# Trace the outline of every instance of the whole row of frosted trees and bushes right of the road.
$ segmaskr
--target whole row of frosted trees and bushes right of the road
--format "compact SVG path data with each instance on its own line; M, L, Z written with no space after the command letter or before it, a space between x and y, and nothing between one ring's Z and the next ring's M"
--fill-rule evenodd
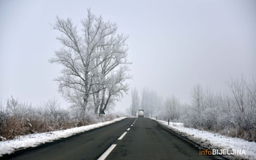
M142 108L146 111L147 117L171 119L173 122L183 122L185 127L219 132L255 142L255 78L248 81L241 76L225 83L227 85L225 92L213 92L210 87L195 85L191 90L189 104L182 104L174 95L164 99L146 88L142 90L142 95L139 97L136 94L137 90L134 89L129 112L134 115L138 108Z

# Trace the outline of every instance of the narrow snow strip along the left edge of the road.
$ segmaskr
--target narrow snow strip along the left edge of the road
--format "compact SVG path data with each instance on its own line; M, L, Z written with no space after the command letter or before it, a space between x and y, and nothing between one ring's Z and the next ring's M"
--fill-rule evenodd
M39 144L45 144L46 142L53 142L56 139L70 137L74 134L78 134L80 132L85 132L91 129L102 127L107 124L112 124L114 122L121 121L122 119L125 119L125 118L126 117L120 117L108 122L100 122L97 124L91 124L87 126L75 127L71 129L65 129L65 130L54 131L54 132L28 134L26 136L18 137L17 139L0 142L0 157L4 154L11 154L18 149L35 147L35 146L38 146Z

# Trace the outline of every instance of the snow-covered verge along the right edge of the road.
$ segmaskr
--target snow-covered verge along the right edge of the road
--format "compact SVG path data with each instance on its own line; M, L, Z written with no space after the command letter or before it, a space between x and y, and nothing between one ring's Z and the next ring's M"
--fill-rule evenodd
M229 159L256 159L256 142L247 142L244 139L183 127L183 124L178 122L170 122L169 125L165 121L157 120L157 122L208 149L245 149L246 155L226 156Z

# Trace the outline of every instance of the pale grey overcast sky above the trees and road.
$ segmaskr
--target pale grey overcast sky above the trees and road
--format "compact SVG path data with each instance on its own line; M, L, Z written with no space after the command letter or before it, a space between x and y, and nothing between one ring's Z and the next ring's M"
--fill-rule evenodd
M61 66L48 59L60 48L55 16L92 14L116 22L129 35L130 87L151 88L189 102L197 83L215 91L225 80L256 76L256 1L0 1L0 99L13 95L33 104L58 98L53 79ZM117 103L125 110L129 95Z

